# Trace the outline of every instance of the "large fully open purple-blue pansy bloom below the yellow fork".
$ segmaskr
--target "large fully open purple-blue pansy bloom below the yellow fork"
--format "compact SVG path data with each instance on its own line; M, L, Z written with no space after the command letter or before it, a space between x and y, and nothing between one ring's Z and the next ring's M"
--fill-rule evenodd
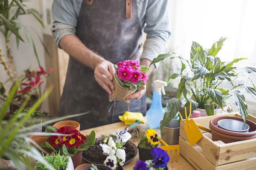
M155 168L164 168L165 166L167 166L167 162L169 162L170 158L163 149L153 148L150 153L155 158L152 162Z

